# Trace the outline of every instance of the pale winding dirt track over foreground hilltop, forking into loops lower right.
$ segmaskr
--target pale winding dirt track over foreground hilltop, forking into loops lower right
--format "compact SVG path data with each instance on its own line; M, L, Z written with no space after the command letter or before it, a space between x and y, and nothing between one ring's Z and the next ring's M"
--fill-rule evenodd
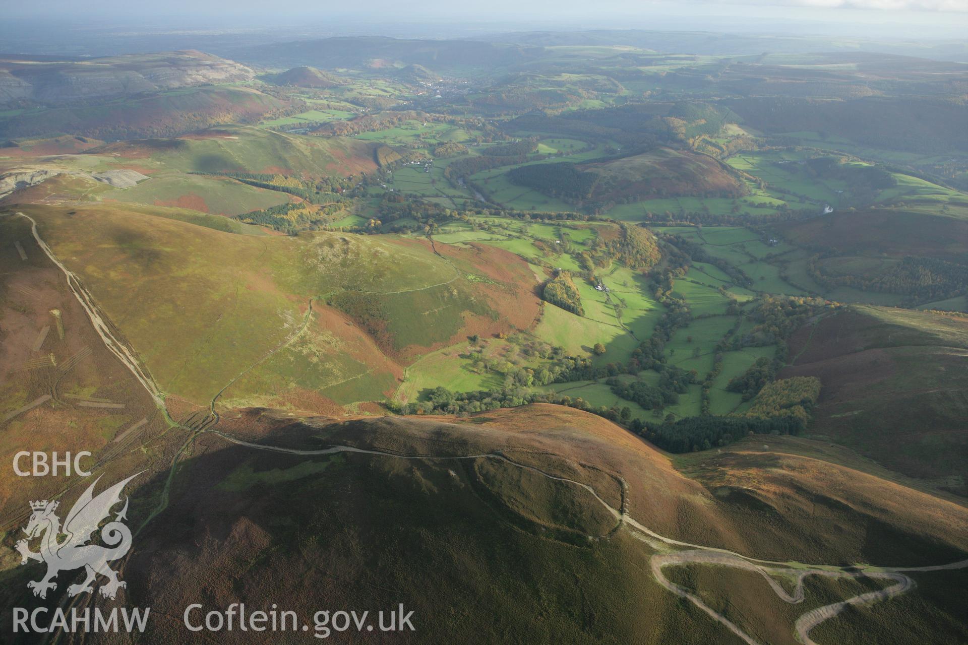
M677 565L687 565L687 564L705 564L705 565L718 565L725 567L733 567L736 569L741 569L744 571L758 572L767 580L773 592L783 601L790 602L791 604L797 604L803 601L803 579L807 575L823 575L828 577L871 577L871 578L883 578L893 580L895 584L884 589L879 589L876 591L867 592L859 596L847 599L845 601L833 602L831 604L812 609L802 614L800 618L797 619L797 623L794 626L794 630L797 634L798 640L800 640L804 645L818 645L809 636L810 630L820 625L824 621L827 621L849 605L852 604L865 604L876 601L883 601L894 596L903 594L904 592L912 589L915 586L914 580L905 575L903 572L932 572L932 571L943 571L951 569L964 569L968 568L968 560L961 560L959 562L953 562L947 565L936 565L932 567L916 567L916 568L886 568L886 567L856 567L852 568L852 571L844 571L843 568L835 565L807 565L800 562L790 561L790 562L773 562L771 560L759 560L756 558L750 558L748 556L742 555L741 553L736 553L724 548L716 548L712 546L704 546L701 544L692 544L689 542L681 542L679 540L673 540L672 538L667 538L663 535L655 533L649 527L639 523L634 518L632 518L627 512L623 512L619 509L614 509L610 504L608 504L604 499L602 499L598 493L589 484L584 484L582 482L576 482L574 480L569 480L567 478L558 477L547 473L539 468L529 466L526 464L521 464L513 459L508 458L504 454L500 453L482 453L482 454L465 454L457 456L437 456L434 454L402 454L393 453L389 451L380 451L373 449L356 448L354 446L332 446L330 448L325 448L321 450L298 450L294 448L282 448L278 446L266 446L263 444L252 443L249 441L243 441L224 432L219 432L216 430L209 430L210 432L219 435L220 437L226 439L227 441L237 444L239 446L245 446L247 448L252 448L255 450L269 451L274 453L286 453L286 454L302 454L307 456L317 456L322 454L337 454L337 453L357 453L357 454L378 454L380 456L397 457L402 459L498 459L509 463L513 466L519 468L524 468L532 472L536 472L544 477L547 477L558 482L564 482L566 484L573 484L584 488L589 491L591 495L598 500L598 502L604 506L609 513L619 521L620 526L626 528L631 535L641 540L642 542L650 543L654 548L655 543L650 540L658 540L659 542L665 542L666 544L672 546L682 546L687 547L689 550L675 551L671 553L658 553L650 558L651 562L651 572L654 576L656 582L671 591L672 593L684 598L697 607L702 609L707 613L713 620L720 623L726 629L732 631L734 634L739 636L743 642L748 645L760 645L760 643L754 640L749 634L741 630L736 624L730 621L728 618L718 613L712 609L709 605L702 601L698 596L689 593L686 589L670 581L662 572L664 567L673 567ZM622 487L627 490L628 483L624 479L621 479ZM773 575L783 575L787 577L794 577L796 580L796 588L794 593L788 593L783 587L776 582Z

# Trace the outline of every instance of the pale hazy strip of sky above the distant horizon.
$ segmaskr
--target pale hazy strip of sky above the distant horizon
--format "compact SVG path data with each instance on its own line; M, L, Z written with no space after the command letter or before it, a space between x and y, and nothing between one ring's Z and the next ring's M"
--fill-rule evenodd
M45 0L6 2L4 18L70 29L244 30L461 37L496 31L646 28L860 38L966 39L968 0ZM449 30L449 31L448 31ZM4 31L0 26L0 35Z

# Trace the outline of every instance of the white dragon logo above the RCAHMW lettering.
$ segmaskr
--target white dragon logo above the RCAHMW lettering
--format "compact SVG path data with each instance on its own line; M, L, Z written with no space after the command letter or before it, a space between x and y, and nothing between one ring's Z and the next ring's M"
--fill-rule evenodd
M72 571L81 567L87 572L87 577L80 584L73 584L67 588L68 596L76 596L81 592L91 593L94 587L91 582L100 573L107 578L107 583L101 586L101 595L105 598L114 599L118 589L128 586L127 583L118 579L117 572L111 570L107 563L112 560L123 558L131 548L131 530L125 526L121 520L127 519L125 513L128 512L128 498L125 498L124 508L114 516L114 521L108 522L101 529L101 540L108 546L101 544L87 544L91 540L92 534L98 529L102 520L106 519L111 508L121 501L121 490L125 484L131 482L140 473L132 475L127 480L114 484L107 490L92 495L94 486L98 484L100 477L94 484L88 486L87 490L77 499L71 513L67 514L63 528L61 527L60 517L54 511L57 510L58 502L31 502L30 508L33 513L30 521L27 522L23 532L27 534L27 540L16 542L15 548L20 552L21 565L27 564L29 560L45 562L47 565L46 575L37 581L27 583L29 589L34 590L34 596L46 598L47 590L56 589L57 583L54 578L62 571ZM28 540L33 540L43 534L41 540L41 550L35 553L27 545ZM63 542L57 539L64 535Z

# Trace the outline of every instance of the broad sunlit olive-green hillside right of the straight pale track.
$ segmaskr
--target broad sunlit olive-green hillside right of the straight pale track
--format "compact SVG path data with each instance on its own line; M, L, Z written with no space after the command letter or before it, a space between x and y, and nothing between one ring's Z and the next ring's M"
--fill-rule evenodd
M477 267L471 252L446 258L410 241L336 233L240 235L217 230L223 218L183 221L146 207L23 211L39 221L42 236L96 294L162 389L197 404L228 384L230 399L250 400L319 393L352 376L358 387L335 398L379 399L399 372L384 353L412 360L471 329L527 326L537 310L534 296L503 274L475 286L471 271L489 269ZM504 265L505 272L519 265L529 271L513 256ZM415 296L428 299L425 308L412 307ZM513 313L499 313L504 308ZM383 320L392 324L381 327Z

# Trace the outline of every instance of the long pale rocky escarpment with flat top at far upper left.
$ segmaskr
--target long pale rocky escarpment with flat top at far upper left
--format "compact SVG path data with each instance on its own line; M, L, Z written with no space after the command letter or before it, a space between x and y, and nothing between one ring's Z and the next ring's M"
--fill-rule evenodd
M0 58L0 105L84 103L254 77L244 65L193 50L81 61Z

